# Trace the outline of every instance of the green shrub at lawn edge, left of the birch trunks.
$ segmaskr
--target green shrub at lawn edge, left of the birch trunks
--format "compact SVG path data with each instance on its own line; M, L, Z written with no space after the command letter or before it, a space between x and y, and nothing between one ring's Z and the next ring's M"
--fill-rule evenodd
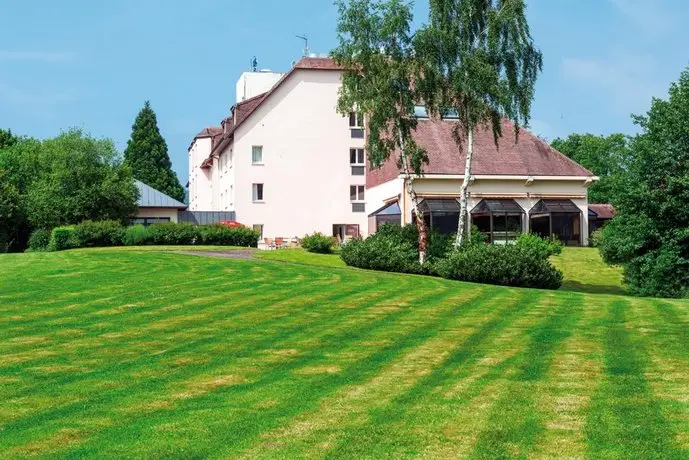
M342 246L340 257L350 267L398 273L422 273L418 250L409 242L378 233Z

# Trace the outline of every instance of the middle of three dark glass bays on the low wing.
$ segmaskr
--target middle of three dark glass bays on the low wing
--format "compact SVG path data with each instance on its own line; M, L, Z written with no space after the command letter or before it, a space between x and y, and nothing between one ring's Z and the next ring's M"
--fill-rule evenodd
M524 216L524 209L514 200L485 199L471 210L471 223L488 242L505 244L523 231Z

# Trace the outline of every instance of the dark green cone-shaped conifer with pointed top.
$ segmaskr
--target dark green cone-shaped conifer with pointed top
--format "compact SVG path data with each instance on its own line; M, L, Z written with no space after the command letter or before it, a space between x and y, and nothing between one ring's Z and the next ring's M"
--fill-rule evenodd
M167 143L160 134L156 114L149 101L134 121L124 161L136 179L178 201L184 200L184 188L172 171Z

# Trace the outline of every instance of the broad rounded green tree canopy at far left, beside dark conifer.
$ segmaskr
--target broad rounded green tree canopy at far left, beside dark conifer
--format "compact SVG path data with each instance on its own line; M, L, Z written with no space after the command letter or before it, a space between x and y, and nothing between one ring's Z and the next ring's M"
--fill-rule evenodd
M32 229L125 222L137 210L138 189L113 142L80 130L45 141L18 139L0 149L0 177L5 250L22 249Z

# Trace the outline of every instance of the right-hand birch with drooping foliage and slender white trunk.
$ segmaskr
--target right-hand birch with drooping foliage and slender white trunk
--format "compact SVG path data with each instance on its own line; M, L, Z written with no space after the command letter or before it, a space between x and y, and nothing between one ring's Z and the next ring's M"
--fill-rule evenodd
M415 37L423 63L418 80L431 113L452 109L454 137L467 144L456 246L469 233L468 187L474 130L487 127L496 144L503 118L528 124L542 55L526 20L525 0L430 0L429 23ZM518 129L516 130L518 133Z

